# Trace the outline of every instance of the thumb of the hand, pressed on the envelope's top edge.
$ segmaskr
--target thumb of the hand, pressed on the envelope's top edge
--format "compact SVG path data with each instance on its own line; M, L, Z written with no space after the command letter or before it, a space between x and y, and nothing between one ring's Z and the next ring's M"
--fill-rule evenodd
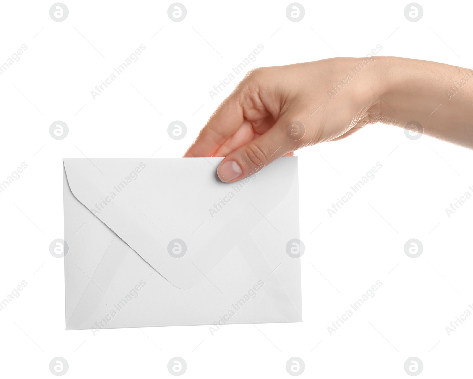
M282 155L296 150L304 134L302 123L280 117L271 129L225 157L217 168L220 180L233 183L253 175Z

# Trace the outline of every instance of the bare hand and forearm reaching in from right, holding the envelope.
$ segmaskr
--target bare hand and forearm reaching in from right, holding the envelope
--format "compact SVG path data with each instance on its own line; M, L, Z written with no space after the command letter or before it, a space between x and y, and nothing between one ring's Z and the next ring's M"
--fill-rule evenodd
M225 157L217 173L232 183L280 156L377 122L473 148L473 71L397 57L254 69L184 156Z

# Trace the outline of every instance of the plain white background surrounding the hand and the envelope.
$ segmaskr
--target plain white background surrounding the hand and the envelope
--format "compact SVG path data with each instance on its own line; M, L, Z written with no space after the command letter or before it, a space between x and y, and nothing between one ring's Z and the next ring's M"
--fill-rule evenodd
M189 378L289 378L293 356L303 377L407 378L411 356L424 364L420 377L471 375L473 316L450 336L445 327L473 303L473 199L451 217L445 208L473 194L472 152L380 124L297 153L303 323L227 325L214 336L208 326L65 332L63 261L49 253L63 236L61 158L182 156L244 74L213 100L209 90L258 44L246 69L363 57L377 44L383 55L473 67L466 2L420 2L424 15L410 22L408 1L301 0L306 15L291 22L290 1L182 1L182 22L167 16L171 1L64 0L63 22L49 16L53 1L2 2L0 64L27 50L0 76L0 181L28 167L0 193L0 299L28 284L0 312L0 375L53 377L56 356L70 378L171 377L174 356ZM94 100L90 91L140 44L139 60ZM69 126L59 141L49 135L56 120ZM188 129L179 141L166 132L174 120ZM375 179L330 217L377 162ZM423 243L419 258L404 253L411 238ZM377 280L376 296L330 336Z

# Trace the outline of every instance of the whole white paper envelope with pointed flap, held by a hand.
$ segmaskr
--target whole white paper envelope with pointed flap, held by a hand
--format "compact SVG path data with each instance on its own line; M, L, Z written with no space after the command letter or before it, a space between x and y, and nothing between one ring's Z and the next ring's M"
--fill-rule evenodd
M66 330L302 321L297 158L221 160L63 160Z

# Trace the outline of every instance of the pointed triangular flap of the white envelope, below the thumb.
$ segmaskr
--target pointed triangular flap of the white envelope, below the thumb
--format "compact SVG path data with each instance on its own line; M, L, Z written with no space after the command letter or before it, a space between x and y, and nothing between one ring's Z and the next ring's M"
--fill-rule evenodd
M74 196L159 274L185 289L235 248L296 178L297 158L283 157L246 180L223 183L216 176L222 159L63 162Z

